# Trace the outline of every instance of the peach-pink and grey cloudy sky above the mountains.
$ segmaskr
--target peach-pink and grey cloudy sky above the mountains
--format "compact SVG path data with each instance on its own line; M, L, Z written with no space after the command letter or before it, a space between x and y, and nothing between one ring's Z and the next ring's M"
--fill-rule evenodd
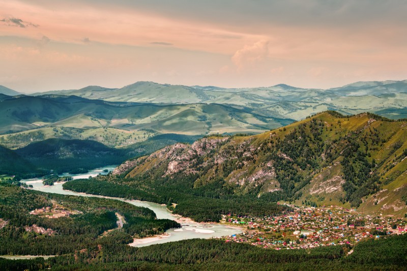
M407 79L405 0L0 0L0 85Z

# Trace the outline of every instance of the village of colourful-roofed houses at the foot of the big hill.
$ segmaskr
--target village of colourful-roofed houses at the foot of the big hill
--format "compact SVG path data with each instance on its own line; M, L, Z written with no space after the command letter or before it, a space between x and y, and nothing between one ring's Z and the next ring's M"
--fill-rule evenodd
M355 245L366 238L380 239L407 232L406 220L370 216L342 207L298 207L270 217L224 216L224 222L244 227L242 234L222 237L225 242L248 243L271 249L307 249Z

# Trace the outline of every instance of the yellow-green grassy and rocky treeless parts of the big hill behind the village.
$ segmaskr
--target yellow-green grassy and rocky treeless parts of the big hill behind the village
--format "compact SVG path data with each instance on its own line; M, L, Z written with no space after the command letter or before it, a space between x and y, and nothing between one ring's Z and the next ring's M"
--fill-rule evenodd
M373 120L375 117L376 116L368 114L360 114L343 118L330 113L318 114L312 118L307 118L303 121L288 125L284 127L284 129L274 130L252 137L234 137L219 149L216 149L215 153L205 155L202 161L208 161L210 163L215 159L216 155L222 153L226 154L227 151L228 153L225 158L231 160L232 163L238 164L240 160L232 158L235 156L234 152L236 149L239 148L239 146L243 146L245 148L242 151L243 153L252 146L252 149L254 149L252 151L253 158L248 159L242 168L236 168L234 164L232 164L232 167L235 167L235 169L227 173L224 178L226 182L231 182L231 180L236 182L237 179L238 182L243 184L235 188L235 194L258 193L258 195L266 195L267 191L279 188L279 183L275 178L265 180L263 183L252 183L248 179L252 178L253 174L260 169L265 168L264 165L268 162L268 152L272 152L273 148L275 148L277 138L279 138L280 141L284 141L286 136L298 130L301 125L309 125L310 122L315 121L316 123L324 124L324 126L322 126L321 138L325 142L325 147L333 145L332 152L336 152L337 156L336 158L334 157L332 162L325 161L323 154L319 157L313 157L312 159L315 160L319 166L307 167L306 170L301 170L298 165L294 165L299 175L303 175L304 177L311 176L311 181L299 190L302 195L294 202L296 204L302 204L304 200L307 200L316 202L317 205L337 204L350 207L349 203L342 204L339 200L345 196L342 188L344 173L341 163L343 160L341 152L348 147L346 138L351 136L353 138L352 140L356 140L359 143L361 152L365 152L367 148L366 160L368 163L372 163L374 159L377 165L374 171L380 177L379 182L376 183L376 185L380 187L380 191L364 196L359 209L369 213L389 212L402 215L407 212L407 206L405 202L401 200L403 195L407 195L407 159L404 159L406 156L404 150L407 149L407 123L381 121L380 118L377 117L376 120ZM308 128L306 128L306 133L308 133L307 137L312 138L313 136L307 129ZM373 142L377 137L379 141ZM272 145L270 145L270 138L274 140ZM336 143L333 143L335 140ZM249 144L244 146L242 145L244 142L249 142ZM267 150L266 153L261 150L257 151L259 148L262 148L264 144L269 144L271 149ZM316 145L310 143L308 147L318 152ZM190 148L188 147L183 150L181 154L186 153L188 149ZM232 152L230 153L228 149L231 149ZM233 149L235 149L235 151ZM284 145L282 149L284 149ZM279 149L278 153L282 153L282 149ZM324 155L326 154L324 153ZM242 154L240 156L242 156ZM299 159L301 159L301 156ZM150 159L136 167L129 173L129 176L152 174L151 170L160 171L164 169L165 171L168 163L169 160L160 160L160 158ZM216 164L210 163L209 168L201 169L199 177L194 181L195 187L210 184L211 179L215 179L216 176L222 176L224 170L223 165L217 166ZM281 173L282 172L280 172L280 174ZM160 176L156 176L156 178L160 178ZM296 187L299 185L299 183L295 184ZM318 191L318 189L320 190ZM377 202L377 204L375 204L375 202Z

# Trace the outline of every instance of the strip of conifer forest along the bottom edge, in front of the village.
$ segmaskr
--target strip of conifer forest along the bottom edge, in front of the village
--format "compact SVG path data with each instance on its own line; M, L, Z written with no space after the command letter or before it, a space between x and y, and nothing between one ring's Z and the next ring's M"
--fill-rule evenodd
M407 235L367 240L351 247L332 246L309 250L265 250L248 244L215 239L190 239L143 248L101 243L98 247L25 262L0 260L0 267L32 270L402 270L407 266ZM36 268L37 267L37 268ZM21 269L20 269L21 270Z

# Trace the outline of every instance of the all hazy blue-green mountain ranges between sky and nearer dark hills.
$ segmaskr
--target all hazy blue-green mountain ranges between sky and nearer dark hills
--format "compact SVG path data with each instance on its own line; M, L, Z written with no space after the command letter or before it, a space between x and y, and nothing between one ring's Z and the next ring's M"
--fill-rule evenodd
M14 97L10 97L14 96ZM357 82L331 89L279 84L221 88L137 82L122 88L21 95L0 87L0 136L7 147L47 138L126 146L158 134L256 134L314 113L372 112L407 117L407 80Z

